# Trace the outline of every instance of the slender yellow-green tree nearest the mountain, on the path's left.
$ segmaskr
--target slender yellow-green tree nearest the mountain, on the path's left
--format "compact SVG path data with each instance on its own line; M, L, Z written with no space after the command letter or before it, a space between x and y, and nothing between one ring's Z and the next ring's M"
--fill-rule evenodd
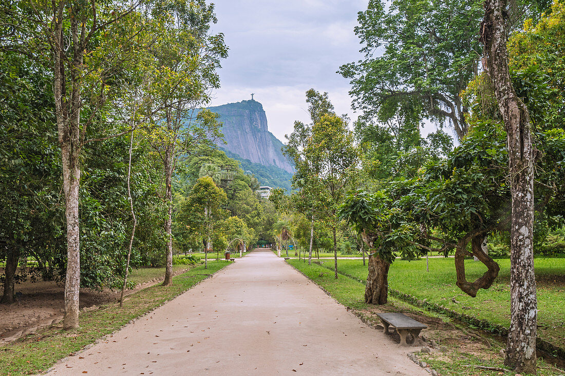
M227 57L223 34L211 34L217 19L204 0L158 2L151 10L162 34L151 49L153 69L144 91L150 115L147 137L163 168L163 202L167 207L166 270L163 286L172 283L172 177L179 160L221 137L218 115L200 107L218 88L216 69Z

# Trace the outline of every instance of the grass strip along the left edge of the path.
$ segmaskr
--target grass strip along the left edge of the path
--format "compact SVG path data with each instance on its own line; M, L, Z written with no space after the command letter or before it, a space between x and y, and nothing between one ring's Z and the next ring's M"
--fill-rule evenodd
M102 305L96 311L81 312L79 329L63 331L60 326L54 326L2 346L0 374L16 376L42 373L58 360L80 351L102 336L120 329L134 318L176 298L227 265L224 261L211 261L208 263L208 269L204 269L203 265L196 266L173 277L171 287L155 285L129 295L122 308L116 303L110 303Z

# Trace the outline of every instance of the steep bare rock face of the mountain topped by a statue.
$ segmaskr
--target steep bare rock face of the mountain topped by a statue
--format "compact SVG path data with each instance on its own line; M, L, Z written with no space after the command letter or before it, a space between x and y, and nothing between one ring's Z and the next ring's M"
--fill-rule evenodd
M218 142L218 147L239 155L242 159L265 166L275 165L289 173L294 168L282 155L282 142L267 128L267 116L257 100L242 100L237 103L210 107L220 115L222 132L227 144Z

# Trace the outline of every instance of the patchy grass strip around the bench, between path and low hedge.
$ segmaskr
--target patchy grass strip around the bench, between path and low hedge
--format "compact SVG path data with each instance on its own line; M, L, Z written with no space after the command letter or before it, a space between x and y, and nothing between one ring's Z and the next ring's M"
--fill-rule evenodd
M349 262L349 260L344 261ZM475 368L476 366L504 368L503 357L499 354L499 351L505 346L501 338L494 336L480 337L472 329L457 327L460 323L451 320L450 317L424 311L392 296L389 296L389 303L386 305L366 304L363 301L365 286L358 279L341 276L336 280L333 272L324 266L316 264L309 266L307 263L298 260L288 260L287 262L323 288L339 303L350 308L351 312L362 318L363 321L372 325L380 322L375 313L389 311L404 312L415 317L416 320L424 322L428 325L428 329L424 330L422 334L437 343L436 350L443 349L444 351L433 351L429 354L420 353L418 356L420 360L427 362L442 376L515 375L513 372ZM376 338L381 335L375 333ZM383 338L382 340L390 339ZM557 376L563 375L564 371L554 368L540 359L537 374Z

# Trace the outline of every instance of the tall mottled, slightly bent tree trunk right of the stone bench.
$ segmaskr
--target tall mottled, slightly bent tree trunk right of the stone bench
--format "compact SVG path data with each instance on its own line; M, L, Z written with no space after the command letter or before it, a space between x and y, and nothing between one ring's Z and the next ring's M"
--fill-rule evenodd
M510 80L506 0L485 0L481 40L487 72L504 120L510 168L510 330L505 365L536 372L537 299L533 267L533 152L527 107Z

